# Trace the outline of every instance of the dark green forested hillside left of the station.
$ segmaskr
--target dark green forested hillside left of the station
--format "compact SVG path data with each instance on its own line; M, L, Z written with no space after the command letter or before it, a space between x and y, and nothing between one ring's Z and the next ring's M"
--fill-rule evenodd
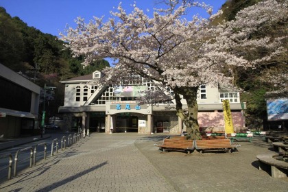
M50 116L56 115L58 107L63 105L64 86L59 83L60 80L109 67L106 60L99 60L83 69L82 62L83 58L73 58L56 36L27 26L19 17L12 18L0 7L0 63L40 87L44 84L56 87L55 95L49 101Z

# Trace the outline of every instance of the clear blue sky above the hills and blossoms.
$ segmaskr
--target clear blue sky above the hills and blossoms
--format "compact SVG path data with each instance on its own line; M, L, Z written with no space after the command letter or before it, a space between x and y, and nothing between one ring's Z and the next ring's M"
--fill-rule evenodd
M123 0L122 5L130 10L130 5L134 1ZM78 16L84 18L86 22L93 19L93 16L105 16L108 19L110 10L113 10L113 7L117 8L119 2L117 0L0 0L0 6L5 8L12 17L19 16L28 26L58 36L67 24L71 27L75 26L74 20ZM139 0L136 1L136 5L152 12L155 2L156 0ZM204 0L204 2L212 5L216 12L226 0ZM207 16L199 9L195 10L196 13Z

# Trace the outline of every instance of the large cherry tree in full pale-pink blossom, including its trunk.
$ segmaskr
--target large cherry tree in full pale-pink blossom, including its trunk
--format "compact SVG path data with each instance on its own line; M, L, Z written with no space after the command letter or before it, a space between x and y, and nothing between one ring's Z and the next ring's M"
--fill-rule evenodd
M186 125L189 138L200 139L197 123L199 86L230 86L231 77L223 72L226 67L254 69L283 53L285 48L281 43L285 36L274 39L251 39L250 36L263 25L287 21L288 9L286 1L267 0L242 10L235 21L213 26L210 22L221 11L209 19L197 14L187 19L187 9L200 4L185 2L175 5L169 14L154 10L151 18L136 5L127 13L119 4L108 21L95 17L94 21L85 23L84 19L78 18L75 29L67 28L67 32L60 35L75 56L86 57L84 66L99 58L115 59L117 66L105 71L110 82L131 71L158 82L158 86L169 87L174 93L177 115ZM211 13L211 8L204 4L202 7ZM269 51L261 57L245 58L245 49L257 50L259 47ZM183 108L183 99L187 108Z

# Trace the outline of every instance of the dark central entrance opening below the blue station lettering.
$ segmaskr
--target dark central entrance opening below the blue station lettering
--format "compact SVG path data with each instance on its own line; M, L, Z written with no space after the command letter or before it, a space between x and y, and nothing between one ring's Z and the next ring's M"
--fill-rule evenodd
M138 117L121 117L116 118L116 132L138 132Z

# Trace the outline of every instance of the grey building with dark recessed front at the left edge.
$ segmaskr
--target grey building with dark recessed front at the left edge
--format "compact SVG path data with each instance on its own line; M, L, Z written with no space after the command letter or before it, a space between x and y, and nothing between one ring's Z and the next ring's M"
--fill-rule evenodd
M0 137L34 134L40 86L0 64Z

